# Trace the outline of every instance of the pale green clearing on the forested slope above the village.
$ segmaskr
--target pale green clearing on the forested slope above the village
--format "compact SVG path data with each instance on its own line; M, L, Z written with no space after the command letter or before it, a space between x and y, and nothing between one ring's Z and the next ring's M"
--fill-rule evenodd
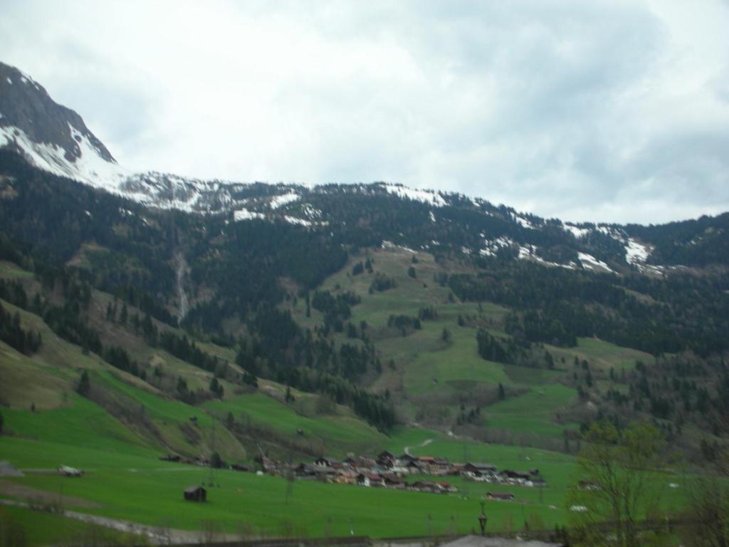
M354 265L367 258L373 272L353 275ZM409 268L415 269L415 277ZM451 430L463 405L468 411L479 408L480 419L474 423L488 430L513 432L515 438L528 433L526 442L551 443L560 449L564 432L578 426L572 418L560 417L562 411L574 414L567 411L578 404L574 359L588 360L598 374L610 368L631 368L635 360L650 358L643 352L581 338L572 349L544 346L543 351L553 354L553 370L484 360L477 352L477 330L507 339L503 322L508 310L492 303L462 303L436 281L440 275L459 271L467 272L469 266L437 263L426 252L388 247L352 257L345 268L321 285L320 290L334 294L351 291L361 298L361 303L352 307L350 321L358 326L366 323L363 332L374 341L384 363L371 389L390 392L406 422ZM378 274L393 279L394 287L383 292L370 290ZM421 309L434 309L436 317L421 320L416 330L388 326L389 317L418 317ZM300 302L292 306L292 314L302 325L321 323L318 311L312 310L311 317L305 317L304 311ZM348 341L344 335L335 334L334 338ZM497 397L499 384L507 400Z

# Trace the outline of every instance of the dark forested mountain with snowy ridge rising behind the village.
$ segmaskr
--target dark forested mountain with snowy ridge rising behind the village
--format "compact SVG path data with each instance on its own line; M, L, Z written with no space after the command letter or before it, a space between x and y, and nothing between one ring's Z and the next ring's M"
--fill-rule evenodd
M14 351L46 362L52 332L155 396L290 387L380 432L570 451L598 417L653 419L693 458L729 432L729 214L577 225L386 182L133 174L32 79L4 66L0 85ZM271 450L327 449L296 435Z

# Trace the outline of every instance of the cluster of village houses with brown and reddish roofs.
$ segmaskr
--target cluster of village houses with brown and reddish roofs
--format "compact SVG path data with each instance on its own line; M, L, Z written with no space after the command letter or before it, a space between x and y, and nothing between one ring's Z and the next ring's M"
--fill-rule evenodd
M418 492L446 494L458 492L455 486L443 480L448 476L463 476L472 481L514 486L546 486L539 470L529 472L502 470L487 463L453 463L445 458L395 456L383 451L376 457L348 457L343 461L319 457L312 463L300 463L295 467L275 462L267 457L260 459L264 473L286 476L295 473L298 478L326 481L338 484L357 484L367 487L408 489ZM432 476L440 480L416 480L408 482L408 476ZM513 499L512 494L494 494L494 499Z

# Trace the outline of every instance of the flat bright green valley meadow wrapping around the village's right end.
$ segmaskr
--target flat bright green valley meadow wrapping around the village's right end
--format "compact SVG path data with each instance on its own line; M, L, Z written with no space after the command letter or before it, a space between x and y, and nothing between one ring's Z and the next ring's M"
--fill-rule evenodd
M48 414L39 416L50 420ZM22 419L20 414L11 413L8 422L13 429L19 429ZM64 423L67 428L72 427L69 422ZM50 433L36 432L59 441ZM400 452L408 446L413 454L488 461L499 468L538 467L548 484L545 489L529 489L448 478L461 492L424 494L312 481L289 484L282 478L227 470L211 473L194 465L159 462L154 451L142 447L118 451L111 437L101 443L91 441L96 432L87 428L82 427L74 435L78 435L75 443L4 437L2 457L20 468L37 470L12 482L51 493L62 491L64 496L76 500L67 503L66 508L77 511L155 526L214 527L248 535L348 535L350 530L374 537L453 530L467 533L477 524L479 500L489 491L508 491L516 496L513 503L486 503L489 529L519 529L526 519L535 518L549 528L566 519L564 494L574 470L572 458L563 454L475 443L432 430L399 428L388 441L392 451ZM96 446L90 448L92 444ZM69 479L40 472L55 468L59 461L83 468L87 474ZM681 480L660 476L652 480L652 488L664 496L667 505L673 506L679 500L676 492L668 488L668 482ZM206 484L208 503L198 505L182 500L182 490L190 484ZM5 497L1 491L0 495Z

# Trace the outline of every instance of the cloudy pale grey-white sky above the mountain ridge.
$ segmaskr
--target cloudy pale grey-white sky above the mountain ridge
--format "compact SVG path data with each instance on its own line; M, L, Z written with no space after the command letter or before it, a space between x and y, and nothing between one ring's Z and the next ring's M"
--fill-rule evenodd
M542 217L729 211L729 0L36 1L0 61L117 161Z

